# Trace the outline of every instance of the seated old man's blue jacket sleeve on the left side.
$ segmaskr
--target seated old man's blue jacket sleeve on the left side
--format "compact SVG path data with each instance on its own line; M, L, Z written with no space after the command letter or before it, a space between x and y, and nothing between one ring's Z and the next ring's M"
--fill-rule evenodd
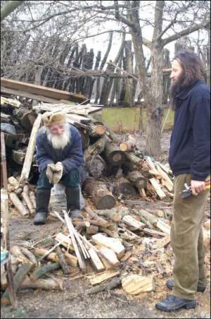
M39 135L36 140L36 161L39 165L39 171L44 171L48 164L54 163L50 155L46 153L44 143Z

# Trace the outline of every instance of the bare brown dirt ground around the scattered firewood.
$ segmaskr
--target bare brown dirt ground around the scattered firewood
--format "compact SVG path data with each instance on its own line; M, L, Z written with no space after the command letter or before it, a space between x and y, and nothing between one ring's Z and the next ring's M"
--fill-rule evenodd
M167 161L170 133L162 137L163 153L159 160ZM140 137L142 145L143 136ZM172 203L169 204L170 207ZM143 208L162 207L159 200L146 202ZM207 203L210 212L210 201ZM50 218L46 225L35 227L32 219L23 219L11 210L11 246L21 241L39 241L60 231L61 222ZM90 287L89 280L79 277L65 277L63 291L42 291L24 289L18 291L18 309L1 306L1 318L210 318L210 255L206 255L206 270L209 285L204 294L196 294L197 307L178 313L162 313L155 309L158 300L165 299L169 293L165 282L169 277L155 277L155 291L138 296L129 296L122 289L113 289L91 296L85 296ZM60 271L58 271L59 275Z

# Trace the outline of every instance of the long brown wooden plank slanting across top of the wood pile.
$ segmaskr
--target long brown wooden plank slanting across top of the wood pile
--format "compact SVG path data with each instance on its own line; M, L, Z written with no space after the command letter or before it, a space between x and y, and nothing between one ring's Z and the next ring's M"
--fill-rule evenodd
M68 100L73 102L84 102L85 100L87 100L87 97L77 93L70 93L68 91L56 90L53 88L47 88L42 85L26 83L6 78L1 78L1 87L13 90L21 90L34 95L42 95L44 97L50 97L55 100Z

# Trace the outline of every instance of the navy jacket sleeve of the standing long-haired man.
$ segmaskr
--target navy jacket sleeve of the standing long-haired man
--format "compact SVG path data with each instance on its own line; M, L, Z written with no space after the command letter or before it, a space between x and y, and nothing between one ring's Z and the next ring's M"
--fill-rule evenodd
M210 98L201 97L191 107L194 155L191 179L205 181L210 174Z

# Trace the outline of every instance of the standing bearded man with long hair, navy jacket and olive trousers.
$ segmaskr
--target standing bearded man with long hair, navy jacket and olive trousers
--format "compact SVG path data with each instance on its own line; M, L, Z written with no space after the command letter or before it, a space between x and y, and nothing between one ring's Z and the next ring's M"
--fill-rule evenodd
M205 291L203 215L210 179L210 88L203 64L194 52L181 52L172 63L170 95L174 127L169 162L174 174L174 216L171 244L174 252L173 279L167 281L172 294L156 304L162 311L195 308L196 291ZM181 198L184 184L192 195Z

